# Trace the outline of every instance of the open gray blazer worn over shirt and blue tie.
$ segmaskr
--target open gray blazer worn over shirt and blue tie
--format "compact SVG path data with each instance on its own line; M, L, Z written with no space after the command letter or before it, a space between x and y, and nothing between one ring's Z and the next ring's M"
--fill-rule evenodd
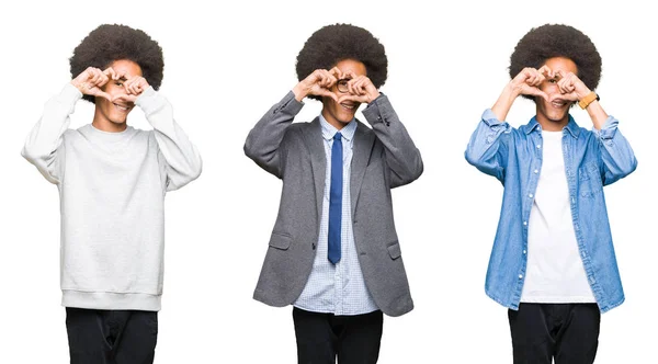
M326 156L319 120L295 123L304 104L291 91L256 124L245 153L283 180L279 216L253 298L286 306L302 294L313 269L325 191ZM420 151L381 95L358 122L350 193L354 241L365 284L379 309L400 316L413 308L393 220L390 189L422 173Z

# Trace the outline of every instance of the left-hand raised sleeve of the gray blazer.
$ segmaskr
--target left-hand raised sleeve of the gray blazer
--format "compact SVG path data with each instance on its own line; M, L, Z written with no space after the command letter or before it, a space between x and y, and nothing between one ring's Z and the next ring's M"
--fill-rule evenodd
M288 92L261 117L245 141L245 155L279 179L283 175L282 144L285 133L303 106L304 103L295 99L293 91Z

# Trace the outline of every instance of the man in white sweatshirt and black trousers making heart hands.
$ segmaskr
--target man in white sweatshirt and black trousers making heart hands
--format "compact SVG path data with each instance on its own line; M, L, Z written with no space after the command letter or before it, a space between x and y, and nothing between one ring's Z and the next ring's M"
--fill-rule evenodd
M59 189L61 292L71 363L152 363L162 294L164 194L201 173L196 147L156 90L162 49L146 33L101 25L70 58L22 155ZM93 121L69 129L78 100ZM139 106L152 130L126 124Z

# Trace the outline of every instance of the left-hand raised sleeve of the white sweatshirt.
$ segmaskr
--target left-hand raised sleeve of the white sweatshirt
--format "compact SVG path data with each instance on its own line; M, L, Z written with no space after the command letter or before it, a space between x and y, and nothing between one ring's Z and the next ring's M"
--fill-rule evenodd
M61 92L53 96L44 107L44 113L27 135L21 155L52 183L58 184L64 178L63 136L70 124L69 115L82 93L67 83Z

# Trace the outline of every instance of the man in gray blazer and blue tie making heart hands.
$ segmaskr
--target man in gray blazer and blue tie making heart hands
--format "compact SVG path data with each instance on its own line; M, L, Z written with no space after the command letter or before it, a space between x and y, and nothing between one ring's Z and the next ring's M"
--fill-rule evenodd
M297 56L297 83L249 133L246 155L283 180L279 216L253 297L293 305L299 363L376 363L383 314L413 308L390 189L422 173L388 98L384 46L366 30L328 25ZM295 123L305 98L322 111ZM367 127L354 118L362 103Z

